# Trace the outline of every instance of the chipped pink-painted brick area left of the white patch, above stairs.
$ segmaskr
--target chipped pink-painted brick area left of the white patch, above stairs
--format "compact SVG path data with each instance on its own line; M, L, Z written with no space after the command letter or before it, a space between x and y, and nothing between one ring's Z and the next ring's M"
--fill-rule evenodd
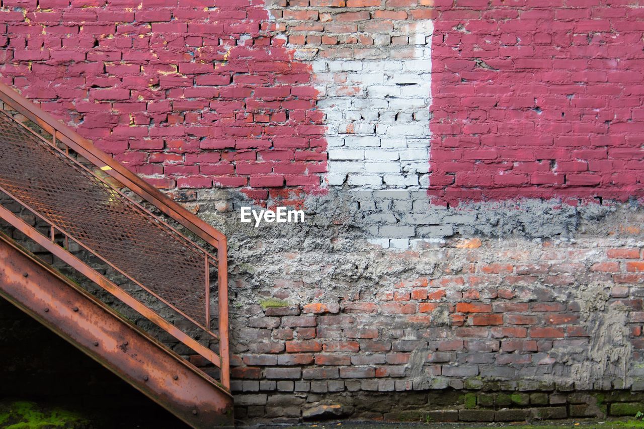
M260 3L4 5L15 10L0 12L3 81L155 186L243 187L258 200L319 186L312 70Z

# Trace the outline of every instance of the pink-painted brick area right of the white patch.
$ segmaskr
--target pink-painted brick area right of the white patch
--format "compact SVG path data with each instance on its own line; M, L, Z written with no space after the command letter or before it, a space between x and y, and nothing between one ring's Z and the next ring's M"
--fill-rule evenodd
M644 195L644 9L434 3L433 202Z

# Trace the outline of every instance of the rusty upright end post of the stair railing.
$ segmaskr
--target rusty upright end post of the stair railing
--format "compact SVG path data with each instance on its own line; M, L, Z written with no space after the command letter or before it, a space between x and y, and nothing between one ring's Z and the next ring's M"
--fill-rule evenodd
M228 243L222 240L217 248L219 294L219 356L222 358L222 385L231 388L230 356L228 350Z

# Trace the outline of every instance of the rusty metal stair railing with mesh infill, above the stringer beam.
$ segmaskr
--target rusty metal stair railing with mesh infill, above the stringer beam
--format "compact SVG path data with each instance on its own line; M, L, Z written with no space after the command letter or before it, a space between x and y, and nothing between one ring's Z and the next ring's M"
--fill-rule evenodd
M1 205L0 218L214 363L222 385L230 388L225 236L4 84L0 100L5 104L0 109L0 191L44 221L49 231L39 232ZM144 202L206 244L198 245ZM71 253L70 241L218 339L219 354ZM211 329L214 269L218 334Z

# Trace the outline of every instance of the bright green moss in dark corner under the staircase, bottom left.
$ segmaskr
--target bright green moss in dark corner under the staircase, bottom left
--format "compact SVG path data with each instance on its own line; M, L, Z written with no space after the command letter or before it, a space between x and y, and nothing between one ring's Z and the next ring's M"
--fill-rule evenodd
M5 429L74 429L88 427L90 422L73 412L19 401L0 405L0 424Z

